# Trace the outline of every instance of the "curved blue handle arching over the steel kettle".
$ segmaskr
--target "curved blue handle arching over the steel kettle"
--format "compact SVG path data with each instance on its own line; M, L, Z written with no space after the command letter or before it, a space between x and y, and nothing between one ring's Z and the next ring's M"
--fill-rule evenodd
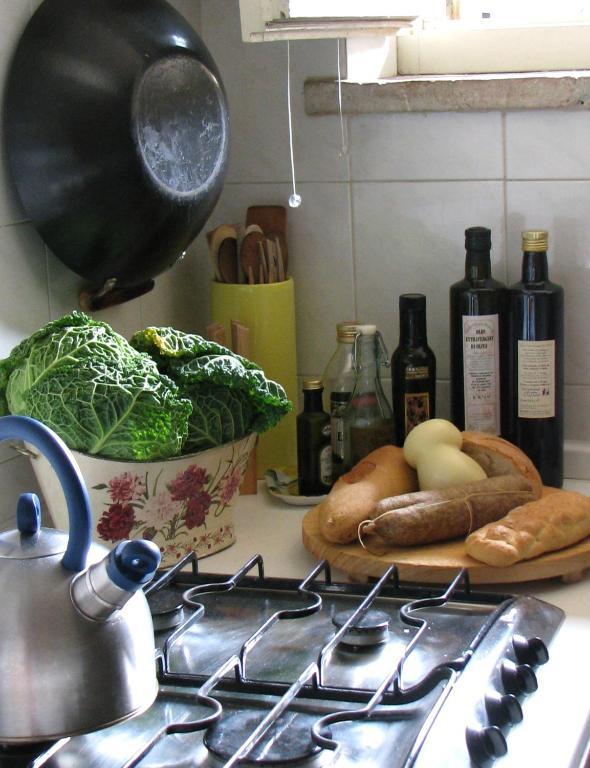
M66 497L70 521L62 565L68 571L83 571L92 539L92 514L86 485L70 449L53 430L28 416L0 418L0 442L3 440L31 443L53 467Z

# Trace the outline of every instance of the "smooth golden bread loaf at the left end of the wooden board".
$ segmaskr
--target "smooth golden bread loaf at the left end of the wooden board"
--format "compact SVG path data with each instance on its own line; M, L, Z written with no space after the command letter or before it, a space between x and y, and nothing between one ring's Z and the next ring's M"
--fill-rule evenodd
M418 477L403 450L394 445L377 448L338 478L318 505L320 531L328 541L350 544L379 499L417 489Z

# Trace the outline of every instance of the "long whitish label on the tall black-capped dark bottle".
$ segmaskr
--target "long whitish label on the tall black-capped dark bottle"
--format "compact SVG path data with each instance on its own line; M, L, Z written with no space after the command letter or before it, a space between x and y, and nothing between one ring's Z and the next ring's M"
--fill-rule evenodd
M465 429L500 434L498 315L463 315Z

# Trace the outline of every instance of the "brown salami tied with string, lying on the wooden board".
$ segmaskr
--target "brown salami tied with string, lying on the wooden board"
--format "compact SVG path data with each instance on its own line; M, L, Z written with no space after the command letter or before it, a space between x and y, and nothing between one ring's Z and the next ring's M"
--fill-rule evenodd
M441 490L409 493L376 504L373 519L361 523L359 537L377 534L384 544L398 547L446 541L499 520L534 498L522 475L488 477Z

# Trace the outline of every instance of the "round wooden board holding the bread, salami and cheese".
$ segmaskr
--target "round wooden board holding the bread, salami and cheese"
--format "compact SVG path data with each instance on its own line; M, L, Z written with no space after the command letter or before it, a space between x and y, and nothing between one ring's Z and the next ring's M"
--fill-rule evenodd
M548 493L562 491L545 488L544 495ZM332 544L325 539L320 533L317 507L310 509L303 518L303 544L316 557L327 560L333 568L360 582L368 577L382 576L392 564L397 565L402 580L428 584L448 583L461 568L469 569L473 584L538 581L555 576L561 576L564 581L576 581L584 569L590 568L590 538L508 568L494 568L469 557L463 539L423 547L396 547L386 555L374 555L358 543Z

